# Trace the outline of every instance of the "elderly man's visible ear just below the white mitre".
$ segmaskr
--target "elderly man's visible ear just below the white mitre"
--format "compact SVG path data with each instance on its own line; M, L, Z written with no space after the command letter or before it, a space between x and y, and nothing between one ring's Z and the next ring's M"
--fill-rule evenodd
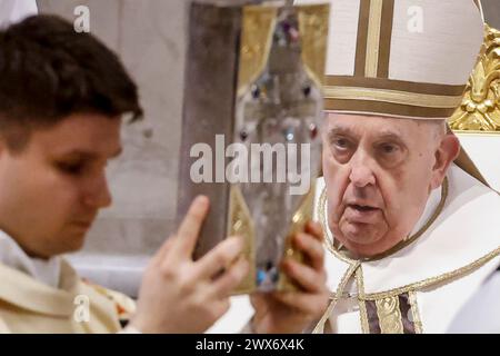
M432 168L431 188L436 189L441 186L447 176L448 168L451 162L457 159L460 154L460 141L453 134L447 134L441 138L441 142L436 150L436 164Z

